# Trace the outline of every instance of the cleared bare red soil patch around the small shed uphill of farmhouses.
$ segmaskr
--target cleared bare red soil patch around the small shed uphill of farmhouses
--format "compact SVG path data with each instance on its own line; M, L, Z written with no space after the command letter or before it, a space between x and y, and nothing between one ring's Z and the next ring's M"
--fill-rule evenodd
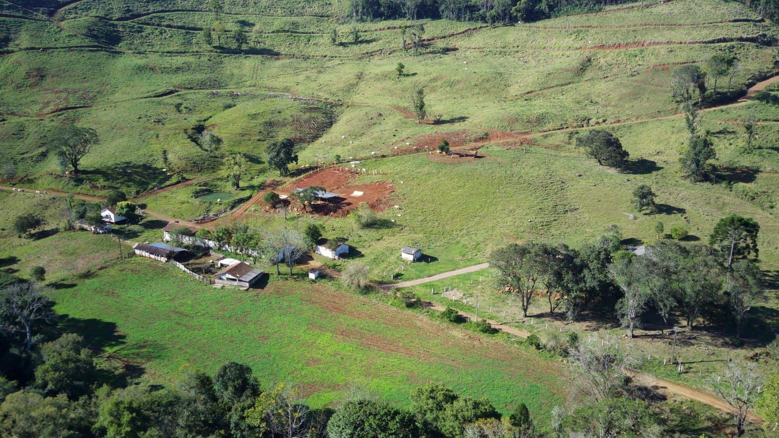
M338 193L339 196L335 200L331 202L320 201L311 207L310 210L313 214L322 216L344 217L361 203L367 203L372 210L382 210L386 207L386 197L395 191L395 186L389 181L350 185L349 182L357 175L357 172L347 168L326 168L313 171L287 186L284 194L289 195L294 189L305 189L310 185L319 185L328 192ZM355 192L363 194L357 196L354 194ZM292 205L295 206L295 203Z

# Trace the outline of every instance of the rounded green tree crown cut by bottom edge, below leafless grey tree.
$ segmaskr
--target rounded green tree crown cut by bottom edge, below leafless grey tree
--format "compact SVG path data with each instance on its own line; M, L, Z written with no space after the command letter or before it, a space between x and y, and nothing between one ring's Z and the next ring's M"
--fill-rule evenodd
M583 404L566 415L555 432L559 436L664 436L657 414L643 400L609 397Z

